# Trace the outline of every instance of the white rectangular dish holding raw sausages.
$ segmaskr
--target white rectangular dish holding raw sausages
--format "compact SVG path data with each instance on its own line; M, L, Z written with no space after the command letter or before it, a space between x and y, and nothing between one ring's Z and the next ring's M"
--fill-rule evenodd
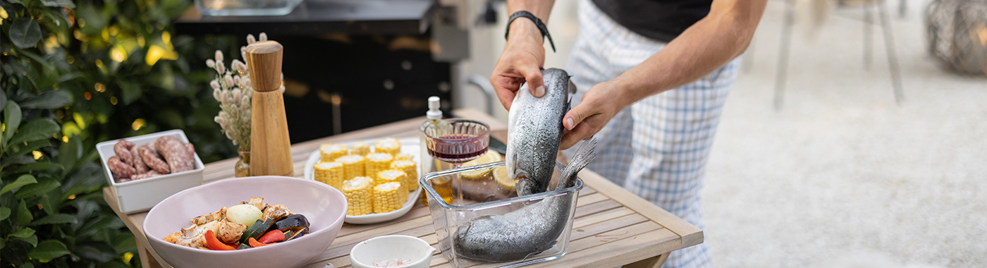
M182 130L143 134L120 139L130 140L130 142L140 146L153 142L158 137L165 135L178 137L182 142L189 142L189 137ZM107 180L110 182L110 188L113 189L116 195L117 209L121 213L145 212L158 205L158 202L165 200L175 193L202 185L202 170L204 169L204 165L202 165L202 160L198 158L198 153L195 154L195 169L142 180L116 183L114 181L114 174L107 165L107 160L116 155L114 145L120 139L100 142L96 144L96 149L99 151L100 158L102 159L103 172L106 173Z

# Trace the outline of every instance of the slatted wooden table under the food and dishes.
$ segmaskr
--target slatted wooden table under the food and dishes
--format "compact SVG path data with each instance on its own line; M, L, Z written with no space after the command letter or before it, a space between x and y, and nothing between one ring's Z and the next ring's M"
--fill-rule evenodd
M458 117L488 123L492 134L506 140L506 126L477 110L454 111ZM312 151L326 142L374 137L418 136L418 126L423 118L411 119L326 138L301 142L291 146L295 163L295 176L302 177L305 161ZM227 159L205 165L204 183L232 178L233 164L237 159ZM668 212L651 205L590 170L579 173L585 188L579 191L575 210L575 222L569 252L562 258L537 263L531 267L659 267L673 250L703 242L703 230L686 223ZM116 200L110 188L103 189L104 199L116 211ZM147 213L116 215L133 231L144 267L171 267L150 247L143 231ZM402 218L367 225L345 223L339 236L322 256L306 267L322 268L327 264L349 267L349 250L359 241L386 234L418 236L437 246L428 208L418 204ZM431 267L451 267L438 250L432 257Z

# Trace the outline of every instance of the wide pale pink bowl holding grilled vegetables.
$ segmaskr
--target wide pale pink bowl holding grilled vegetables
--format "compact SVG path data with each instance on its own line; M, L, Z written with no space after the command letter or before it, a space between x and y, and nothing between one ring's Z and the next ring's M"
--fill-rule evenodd
M251 197L262 197L270 205L283 204L292 213L304 215L312 232L284 243L231 251L165 242L165 236L181 231L191 219ZM299 267L329 248L345 216L345 197L324 183L282 176L246 177L204 184L165 199L147 214L144 233L151 247L175 267Z

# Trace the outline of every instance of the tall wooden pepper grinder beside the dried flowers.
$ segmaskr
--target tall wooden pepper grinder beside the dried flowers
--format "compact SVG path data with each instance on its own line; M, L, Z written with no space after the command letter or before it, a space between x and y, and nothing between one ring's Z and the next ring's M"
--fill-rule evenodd
M283 46L273 41L247 45L247 65L254 87L251 115L251 165L254 176L294 177L291 140L284 116L281 91L281 54Z

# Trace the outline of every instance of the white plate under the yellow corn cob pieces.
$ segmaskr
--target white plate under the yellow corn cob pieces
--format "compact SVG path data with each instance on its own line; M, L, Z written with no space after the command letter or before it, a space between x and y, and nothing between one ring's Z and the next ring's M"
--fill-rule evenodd
M367 142L367 144L370 144L370 146L373 147L373 143L374 142L377 142L377 140L380 140L380 139L381 138L370 138L370 139L364 139L364 140L353 140L353 141L347 141L347 142L340 142L340 144L343 144L343 145L347 145L348 146L349 144L356 143L356 142L359 142L359 141L363 141L363 142ZM401 152L402 153L409 153L409 154L414 155L414 160L415 160L416 163L418 163L418 175L421 175L421 164L420 164L421 161L419 159L420 156L418 155L421 152L419 151L419 148L420 148L419 147L419 142L420 141L418 141L418 138L416 138L416 137L398 138L398 141L401 142ZM305 161L305 171L304 171L304 173L305 173L305 179L315 180L315 165L319 163L319 158L320 157L321 157L321 153L319 152L319 150L315 150L315 151L312 152L312 154L309 155L308 160ZM416 178L415 181L418 182L418 178ZM401 218L402 216L405 216L405 214L407 214L409 211L411 211L412 210L412 207L415 207L415 201L418 200L418 195L420 193L421 193L421 187L418 187L418 190L415 190L414 192L412 192L411 194L409 194L408 201L405 202L404 207L401 207L401 209L399 209L397 211L393 211L393 212L389 212L389 213L383 213L383 214L369 214L369 215L362 215L362 216L346 216L345 223L350 223L350 224L383 223L383 222L387 222L387 221L391 221L391 220L395 220L395 219Z

